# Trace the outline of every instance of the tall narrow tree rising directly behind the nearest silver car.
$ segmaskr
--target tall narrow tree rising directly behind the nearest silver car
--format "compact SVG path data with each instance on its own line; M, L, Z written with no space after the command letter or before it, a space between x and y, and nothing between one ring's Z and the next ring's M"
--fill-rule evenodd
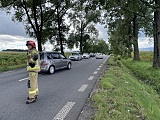
M61 53L64 54L63 45L66 42L65 35L69 31L69 26L65 23L68 10L73 7L74 3L71 0L50 0L51 4L55 7L55 18L52 19L52 27L56 30L55 39L60 45Z

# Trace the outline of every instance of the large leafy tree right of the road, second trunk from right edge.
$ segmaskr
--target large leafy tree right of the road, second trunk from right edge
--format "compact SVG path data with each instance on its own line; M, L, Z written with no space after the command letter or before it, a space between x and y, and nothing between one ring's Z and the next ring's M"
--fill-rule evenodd
M125 32L125 34L121 34L122 36L120 38L124 38L125 36L125 39L119 39L119 40L122 40L122 42L120 43L123 43L123 44L127 43L125 44L125 46L129 51L131 51L130 43L132 43L134 46L133 59L140 60L139 48L138 48L138 33L140 28L142 28L142 26L144 27L146 23L150 22L148 21L148 19L146 19L151 16L150 10L147 9L147 7L140 0L134 0L134 1L108 0L108 1L105 1L105 3L104 1L102 1L102 3L104 4L104 7L102 7L102 9L107 11L105 17L107 17L107 22L109 26L108 28L110 29L110 31L118 32L117 26L119 26L118 27L119 29L121 28L120 25L125 25L124 29L121 29L121 31L125 31L125 29L127 28L128 32ZM111 33L115 33L115 32L111 32ZM126 38L130 40L126 41ZM115 40L115 39L111 39L111 40Z

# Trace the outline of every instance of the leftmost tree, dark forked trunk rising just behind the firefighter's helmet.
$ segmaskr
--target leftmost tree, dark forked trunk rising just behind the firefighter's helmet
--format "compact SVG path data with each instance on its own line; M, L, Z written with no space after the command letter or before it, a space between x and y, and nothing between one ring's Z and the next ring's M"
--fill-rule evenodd
M23 22L26 33L38 42L38 50L42 51L42 44L46 42L48 29L45 28L50 18L54 17L55 10L48 0L0 0L1 8L6 12L14 9L14 20Z

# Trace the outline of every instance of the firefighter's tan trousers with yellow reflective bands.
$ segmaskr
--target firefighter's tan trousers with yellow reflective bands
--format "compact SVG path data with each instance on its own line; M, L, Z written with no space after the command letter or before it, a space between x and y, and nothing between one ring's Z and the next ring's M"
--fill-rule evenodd
M38 73L37 72L29 72L28 93L29 93L29 98L34 98L36 95L38 95Z

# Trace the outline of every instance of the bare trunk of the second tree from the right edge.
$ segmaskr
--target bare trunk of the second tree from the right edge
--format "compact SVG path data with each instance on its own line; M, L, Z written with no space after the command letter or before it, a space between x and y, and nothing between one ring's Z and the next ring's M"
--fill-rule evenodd
M140 60L139 57L139 48L138 48L138 21L137 15L134 14L133 18L133 39L134 39L134 58L133 60Z

